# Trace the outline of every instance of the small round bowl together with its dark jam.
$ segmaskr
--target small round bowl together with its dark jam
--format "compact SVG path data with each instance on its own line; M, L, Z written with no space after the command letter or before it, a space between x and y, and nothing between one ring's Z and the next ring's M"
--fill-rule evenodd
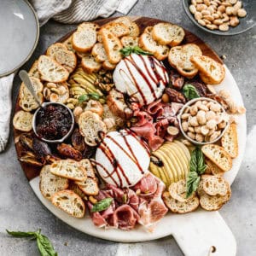
M61 143L73 131L72 111L61 103L47 102L33 118L33 131L47 143Z

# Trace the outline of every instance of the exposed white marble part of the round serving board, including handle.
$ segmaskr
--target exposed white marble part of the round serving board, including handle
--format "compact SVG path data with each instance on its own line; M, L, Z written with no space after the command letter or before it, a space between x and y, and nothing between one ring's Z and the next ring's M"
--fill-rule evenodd
M225 69L225 79L221 84L216 86L216 90L223 88L229 90L232 92L234 100L236 100L239 105L243 105L240 90L236 85L236 81L229 69L227 67L225 67ZM233 183L241 166L247 137L246 115L243 114L237 116L237 121L239 155L236 160L233 160L233 167L230 172L224 174L224 177L230 183ZM185 255L207 255L211 246L214 246L217 249L216 253L213 253L212 255L236 255L236 240L218 212L197 210L195 212L180 215L168 213L166 217L160 220L153 233L148 233L142 226L138 226L137 229L131 231L114 229L102 230L94 226L88 215L82 219L73 218L68 216L67 213L54 207L40 193L38 183L39 177L30 181L33 191L38 196L39 200L42 201L44 206L47 207L50 212L55 214L57 218L60 218L73 228L89 234L90 236L96 236L111 241L137 242L149 241L172 235L175 237ZM232 203L232 200L230 203Z

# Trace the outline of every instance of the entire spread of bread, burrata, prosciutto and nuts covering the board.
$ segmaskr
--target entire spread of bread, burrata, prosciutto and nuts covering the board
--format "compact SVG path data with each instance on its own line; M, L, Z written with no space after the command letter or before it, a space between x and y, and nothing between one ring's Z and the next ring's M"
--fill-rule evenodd
M49 104L21 84L15 144L55 207L99 228L153 232L166 214L230 200L224 172L246 110L215 90L223 64L184 37L167 22L143 31L129 17L84 22L34 62L32 85Z

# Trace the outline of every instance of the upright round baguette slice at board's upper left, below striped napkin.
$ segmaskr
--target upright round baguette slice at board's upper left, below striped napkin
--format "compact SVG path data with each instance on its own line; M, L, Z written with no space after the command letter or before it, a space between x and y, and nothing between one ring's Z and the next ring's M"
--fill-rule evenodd
M96 31L98 28L98 25L91 22L80 24L77 31L73 33L73 49L79 52L89 52L93 45L96 44Z

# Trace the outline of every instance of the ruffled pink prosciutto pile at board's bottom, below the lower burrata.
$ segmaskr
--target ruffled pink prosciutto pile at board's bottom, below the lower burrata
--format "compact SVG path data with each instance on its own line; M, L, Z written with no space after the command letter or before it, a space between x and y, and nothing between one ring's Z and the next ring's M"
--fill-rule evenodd
M142 224L149 231L163 218L167 208L161 195L165 184L159 178L147 172L144 177L131 189L119 189L107 184L96 200L101 201L112 197L112 204L102 212L90 212L93 223L98 227L113 227L121 230L131 230L137 223ZM91 210L93 205L87 202Z

